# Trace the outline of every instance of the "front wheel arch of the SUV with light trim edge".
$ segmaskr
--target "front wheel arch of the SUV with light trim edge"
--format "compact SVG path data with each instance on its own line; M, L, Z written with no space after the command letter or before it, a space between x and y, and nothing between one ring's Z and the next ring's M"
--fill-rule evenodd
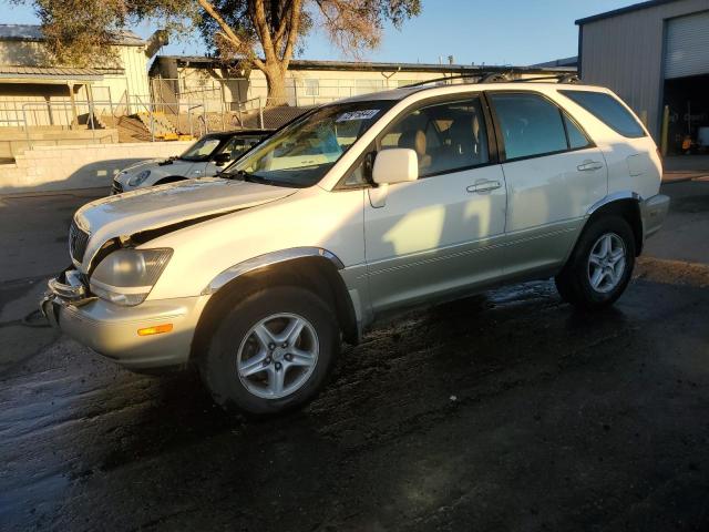
M359 342L354 306L339 270L345 266L321 248L292 248L261 255L234 265L217 275L203 291L212 295L199 317L192 345L192 358L205 352L219 318L238 300L273 286L300 286L314 291L336 313L343 339Z

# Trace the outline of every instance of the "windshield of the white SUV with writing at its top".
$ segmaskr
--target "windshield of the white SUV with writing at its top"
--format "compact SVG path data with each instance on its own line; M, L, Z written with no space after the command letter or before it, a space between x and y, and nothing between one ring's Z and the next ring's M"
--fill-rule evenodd
M281 186L312 186L393 103L384 100L320 108L264 141L226 175Z

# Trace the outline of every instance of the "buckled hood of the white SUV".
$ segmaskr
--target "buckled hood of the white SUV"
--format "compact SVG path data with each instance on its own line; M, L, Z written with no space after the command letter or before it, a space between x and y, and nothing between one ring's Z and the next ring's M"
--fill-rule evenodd
M88 203L74 215L76 225L90 234L84 254L88 264L109 239L144 231L214 217L295 194L294 188L218 177L140 188Z

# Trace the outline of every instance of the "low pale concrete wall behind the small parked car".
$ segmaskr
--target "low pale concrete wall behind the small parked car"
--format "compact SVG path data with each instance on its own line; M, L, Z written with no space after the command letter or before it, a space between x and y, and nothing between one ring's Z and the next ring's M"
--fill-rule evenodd
M184 152L192 142L37 146L0 165L0 194L111 186L125 166Z

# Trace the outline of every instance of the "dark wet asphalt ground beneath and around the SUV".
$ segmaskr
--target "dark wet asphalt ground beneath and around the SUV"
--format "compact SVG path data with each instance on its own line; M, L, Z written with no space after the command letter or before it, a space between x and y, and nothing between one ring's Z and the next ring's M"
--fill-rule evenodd
M538 282L413 313L267 421L31 315L95 193L0 198L0 530L709 530L709 183L664 186L614 308Z

